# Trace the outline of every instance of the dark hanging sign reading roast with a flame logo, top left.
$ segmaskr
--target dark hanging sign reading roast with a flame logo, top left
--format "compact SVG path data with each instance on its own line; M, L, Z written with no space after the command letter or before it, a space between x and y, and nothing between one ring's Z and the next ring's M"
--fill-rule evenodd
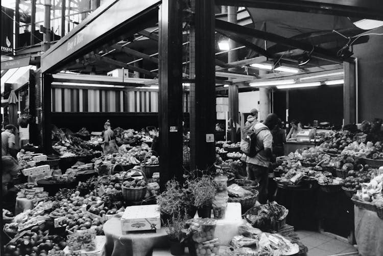
M2 6L2 30L0 32L2 55L13 53L13 13L12 9Z

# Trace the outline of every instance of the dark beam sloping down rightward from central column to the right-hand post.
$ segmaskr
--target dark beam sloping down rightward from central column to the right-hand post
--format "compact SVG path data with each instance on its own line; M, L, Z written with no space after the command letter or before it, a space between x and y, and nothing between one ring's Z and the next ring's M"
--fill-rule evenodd
M222 20L216 20L216 27L219 28L220 30L229 31L237 35L253 36L255 38L260 38L267 41L272 41L275 43L286 45L294 49L295 48L302 49L304 51L312 52L312 55L329 59L331 61L337 61L338 63L343 63L335 52L328 51L318 46L313 46L309 43L293 40L290 38L286 38L286 37L279 36L276 34L265 32L265 31L242 27L242 26L231 24L230 22L226 22ZM348 61L351 61L351 60L348 60Z

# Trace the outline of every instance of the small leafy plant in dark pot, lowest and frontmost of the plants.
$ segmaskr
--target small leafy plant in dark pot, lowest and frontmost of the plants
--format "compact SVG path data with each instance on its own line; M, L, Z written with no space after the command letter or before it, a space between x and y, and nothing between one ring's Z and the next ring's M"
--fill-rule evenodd
M170 241L170 253L172 255L182 255L185 251L183 244L185 240L185 222L186 219L180 217L173 219L172 222L167 222L166 233Z

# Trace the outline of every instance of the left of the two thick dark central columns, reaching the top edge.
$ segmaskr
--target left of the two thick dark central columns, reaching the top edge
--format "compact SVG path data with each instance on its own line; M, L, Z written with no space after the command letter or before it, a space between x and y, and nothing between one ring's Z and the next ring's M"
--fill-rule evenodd
M164 0L159 11L160 188L182 179L182 9L181 1Z

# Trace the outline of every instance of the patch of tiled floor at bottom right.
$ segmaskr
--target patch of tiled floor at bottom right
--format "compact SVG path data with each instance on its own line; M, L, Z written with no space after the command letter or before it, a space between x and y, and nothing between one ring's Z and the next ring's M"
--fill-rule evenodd
M296 231L300 241L307 246L307 256L357 255L354 246L314 231Z

